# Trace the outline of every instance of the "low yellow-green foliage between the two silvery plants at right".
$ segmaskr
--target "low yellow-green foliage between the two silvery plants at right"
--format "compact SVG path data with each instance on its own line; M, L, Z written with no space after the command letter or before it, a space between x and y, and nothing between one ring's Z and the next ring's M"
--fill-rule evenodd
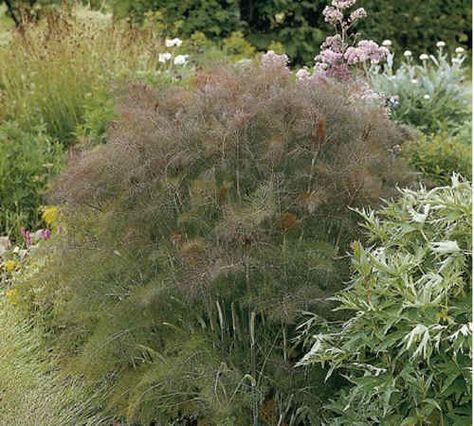
M407 143L403 155L430 185L449 184L453 172L471 179L471 146L459 137L423 136Z

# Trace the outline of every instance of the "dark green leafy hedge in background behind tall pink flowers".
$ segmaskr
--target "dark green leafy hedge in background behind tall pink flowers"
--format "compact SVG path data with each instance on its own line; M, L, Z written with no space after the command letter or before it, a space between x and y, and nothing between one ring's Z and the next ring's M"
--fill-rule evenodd
M284 44L295 63L310 63L328 25L322 11L329 2L292 0L111 0L119 17L143 20L147 11L159 10L168 23L177 22L180 35L202 31L218 39L243 30L258 49L272 41ZM397 48L424 50L433 41L448 45L471 42L471 5L463 0L360 0L371 13L361 29L377 41L392 39Z

